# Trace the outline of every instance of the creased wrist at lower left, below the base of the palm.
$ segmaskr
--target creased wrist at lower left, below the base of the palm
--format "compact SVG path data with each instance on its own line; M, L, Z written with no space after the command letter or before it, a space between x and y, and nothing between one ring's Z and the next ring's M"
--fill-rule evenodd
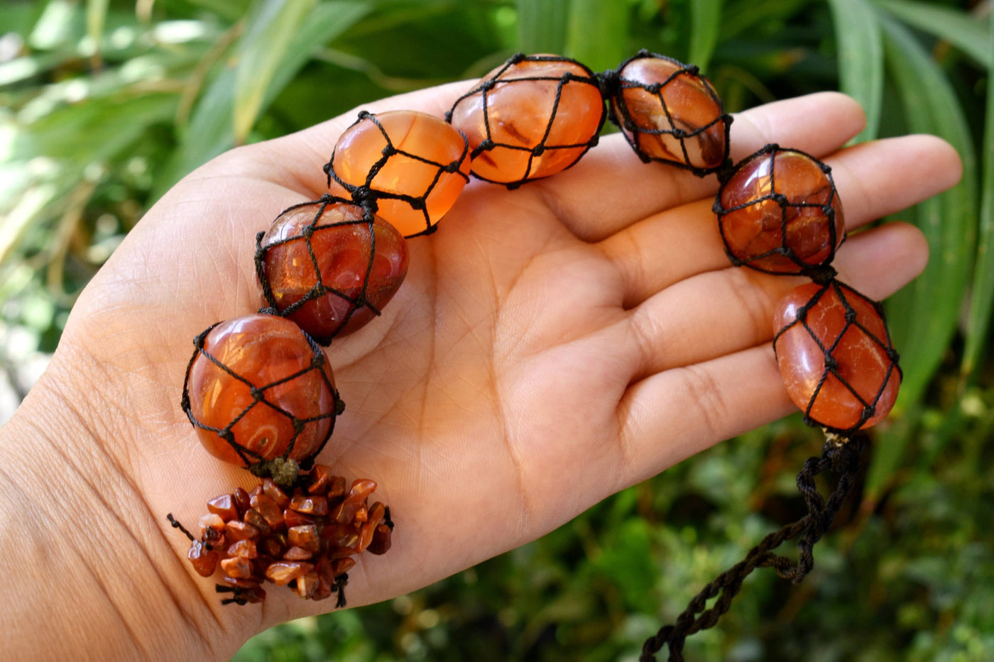
M101 438L99 399L63 379L63 365L83 364L64 362L68 351L0 428L7 655L227 659L248 623L231 622L184 568L120 449Z

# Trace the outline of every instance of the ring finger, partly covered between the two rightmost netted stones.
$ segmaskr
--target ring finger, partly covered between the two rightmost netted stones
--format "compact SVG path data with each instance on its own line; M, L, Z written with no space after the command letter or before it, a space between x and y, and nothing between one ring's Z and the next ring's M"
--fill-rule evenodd
M894 223L855 236L834 265L842 281L876 299L911 281L927 255L928 245L916 228ZM629 329L619 331L638 357L633 381L768 342L777 302L803 282L730 266L658 292L634 308Z

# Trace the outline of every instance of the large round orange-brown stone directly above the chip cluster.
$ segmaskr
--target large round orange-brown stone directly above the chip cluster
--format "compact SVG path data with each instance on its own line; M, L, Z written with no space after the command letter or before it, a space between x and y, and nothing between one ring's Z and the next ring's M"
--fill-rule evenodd
M326 358L320 368L307 370L314 361L314 349L296 324L274 315L248 315L218 324L207 334L203 347L203 352L238 377L202 352L196 354L187 389L190 414L197 421L220 430L231 426L235 442L249 451L249 461L281 456L294 436L289 455L293 459L308 457L320 448L334 420L335 382ZM252 388L259 391L260 401L252 397ZM294 434L291 416L322 415L327 417L304 423L299 434ZM245 464L218 432L197 427L197 434L212 455Z

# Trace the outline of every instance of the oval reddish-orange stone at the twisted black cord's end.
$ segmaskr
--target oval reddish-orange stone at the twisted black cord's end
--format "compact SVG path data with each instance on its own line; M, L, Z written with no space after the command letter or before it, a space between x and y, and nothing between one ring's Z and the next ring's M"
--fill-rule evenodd
M813 298L814 305L798 320ZM852 323L843 299L855 311ZM791 290L776 307L773 328L785 329L773 349L787 394L819 424L869 427L894 407L901 372L887 327L874 304L850 287L832 281ZM818 342L830 350L828 358ZM867 416L860 423L864 410Z

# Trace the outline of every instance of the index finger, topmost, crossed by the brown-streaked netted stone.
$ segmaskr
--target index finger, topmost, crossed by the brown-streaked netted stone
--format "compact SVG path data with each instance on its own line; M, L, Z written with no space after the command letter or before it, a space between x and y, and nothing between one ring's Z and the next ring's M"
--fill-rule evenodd
M767 103L736 115L732 159L739 161L770 142L821 157L840 148L865 124L859 104L838 92ZM605 137L573 168L532 186L587 242L718 190L715 177L700 179L672 166L642 163L620 134Z

